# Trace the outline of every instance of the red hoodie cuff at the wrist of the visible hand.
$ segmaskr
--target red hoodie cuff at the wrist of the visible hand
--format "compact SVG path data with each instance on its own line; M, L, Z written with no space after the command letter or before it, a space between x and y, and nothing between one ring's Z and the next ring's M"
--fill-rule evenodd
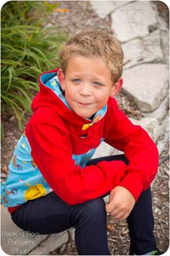
M135 201L138 200L141 192L143 192L143 182L138 174L129 173L120 182L119 186L125 187L135 197Z

